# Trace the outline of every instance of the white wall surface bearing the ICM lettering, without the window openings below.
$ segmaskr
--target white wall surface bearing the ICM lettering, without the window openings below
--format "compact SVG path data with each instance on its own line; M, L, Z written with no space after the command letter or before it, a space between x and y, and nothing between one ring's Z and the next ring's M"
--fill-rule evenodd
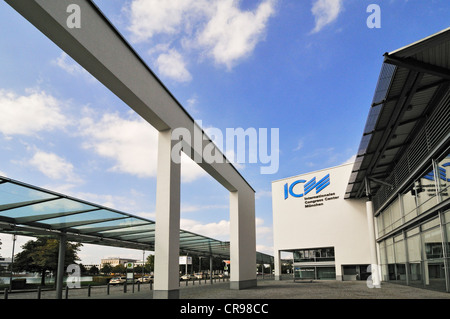
M344 199L352 168L350 163L272 182L275 257L279 250L334 247L338 278L343 264L370 264L365 200ZM327 174L328 186L304 195L311 179L317 183ZM288 192L285 198L285 184L289 189L297 180L305 182L296 184L292 193L303 196ZM322 205L305 207L315 196L321 196L314 200Z

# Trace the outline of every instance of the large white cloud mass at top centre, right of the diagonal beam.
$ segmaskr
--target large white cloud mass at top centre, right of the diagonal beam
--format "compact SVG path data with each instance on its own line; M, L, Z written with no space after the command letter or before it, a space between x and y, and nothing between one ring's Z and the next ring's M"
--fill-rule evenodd
M163 51L155 62L161 74L185 82L191 76L182 57L192 52L228 69L250 55L264 38L275 2L264 0L253 11L243 11L235 0L133 0L124 11L132 41L154 39L149 53ZM183 52L173 51L175 45Z

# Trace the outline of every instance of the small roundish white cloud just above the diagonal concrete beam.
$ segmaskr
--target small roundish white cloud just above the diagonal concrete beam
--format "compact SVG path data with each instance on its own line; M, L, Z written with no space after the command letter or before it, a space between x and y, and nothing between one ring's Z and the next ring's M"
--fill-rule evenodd
M182 55L174 49L160 54L155 63L159 73L164 77L178 82L189 82L192 80L192 76L186 69L186 63Z

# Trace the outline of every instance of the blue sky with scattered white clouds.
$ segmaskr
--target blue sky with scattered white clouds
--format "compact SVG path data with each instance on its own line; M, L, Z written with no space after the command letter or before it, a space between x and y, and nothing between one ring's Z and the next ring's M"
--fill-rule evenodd
M450 12L447 0L94 2L207 132L278 130L274 172L235 161L256 191L256 248L271 255L271 182L352 161L383 54L449 27ZM151 125L0 2L1 176L155 220L156 150ZM229 240L228 191L186 159L181 228ZM0 239L10 257L11 235ZM79 256L142 251L84 245Z

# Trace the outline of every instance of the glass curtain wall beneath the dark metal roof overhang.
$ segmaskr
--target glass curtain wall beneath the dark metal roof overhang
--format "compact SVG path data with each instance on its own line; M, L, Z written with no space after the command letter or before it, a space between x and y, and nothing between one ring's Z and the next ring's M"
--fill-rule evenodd
M447 151L432 161L420 178L377 216L378 236L394 234L379 243L383 280L450 292L448 205L430 214L421 224L396 231L448 200L449 193L450 152Z

